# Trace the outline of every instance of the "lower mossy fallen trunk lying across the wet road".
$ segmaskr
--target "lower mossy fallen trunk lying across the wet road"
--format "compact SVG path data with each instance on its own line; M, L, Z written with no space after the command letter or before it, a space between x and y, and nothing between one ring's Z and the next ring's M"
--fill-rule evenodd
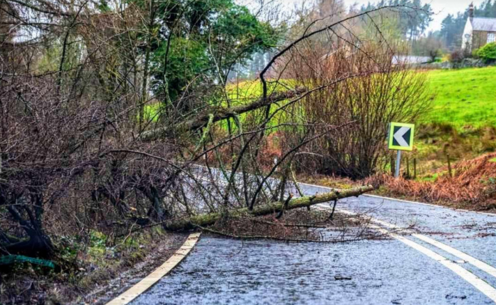
M360 196L364 193L374 190L372 185L361 186L351 189L335 190L323 194L315 194L312 196L304 196L295 199L291 199L286 202L272 202L269 204L255 206L253 210L248 210L248 208L240 208L229 211L226 213L209 213L203 215L197 215L188 217L181 220L174 220L165 224L166 229L171 231L183 231L195 229L198 227L206 227L215 224L217 221L221 220L223 217L243 217L246 215L251 216L263 216L271 213L280 213L287 210L310 207L312 205L338 200L347 197Z

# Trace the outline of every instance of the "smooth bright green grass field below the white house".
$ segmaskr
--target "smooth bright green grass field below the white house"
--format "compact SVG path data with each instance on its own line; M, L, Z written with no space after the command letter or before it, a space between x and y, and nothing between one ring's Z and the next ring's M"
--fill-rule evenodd
M421 123L449 123L457 129L496 126L496 67L427 73L436 97Z

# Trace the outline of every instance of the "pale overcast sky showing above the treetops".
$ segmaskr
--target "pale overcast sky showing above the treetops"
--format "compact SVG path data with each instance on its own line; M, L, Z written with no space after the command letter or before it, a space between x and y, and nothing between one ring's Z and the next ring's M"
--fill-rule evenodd
M239 0L243 1L243 0ZM245 0L249 1L249 0ZM284 3L287 9L292 9L294 4L302 3L303 0L278 0ZM347 6L351 6L357 3L359 6L362 4L367 4L370 0L344 0ZM307 0L308 2L308 0ZM377 2L377 0L372 0L371 2ZM441 21L446 17L447 14L456 14L459 11L465 10L472 0L422 0L422 3L430 3L435 15L434 20L431 22L430 30L439 30L441 28ZM479 6L483 0L474 0L474 5ZM496 17L496 16L495 16Z

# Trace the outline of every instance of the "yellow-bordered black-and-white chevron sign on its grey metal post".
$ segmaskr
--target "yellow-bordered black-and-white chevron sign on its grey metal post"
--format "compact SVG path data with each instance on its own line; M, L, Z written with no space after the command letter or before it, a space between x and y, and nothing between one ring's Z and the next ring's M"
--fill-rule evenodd
M413 150L413 134L415 131L414 124L396 123L389 124L389 149L398 151L396 157L396 172L394 177L400 177L401 151Z

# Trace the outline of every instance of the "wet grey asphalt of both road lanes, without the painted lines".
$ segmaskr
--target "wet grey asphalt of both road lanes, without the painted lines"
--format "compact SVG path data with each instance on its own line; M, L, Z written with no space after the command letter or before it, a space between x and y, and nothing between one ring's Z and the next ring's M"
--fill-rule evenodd
M303 186L307 194L328 189ZM342 199L496 266L496 215L387 200ZM413 236L496 287L496 278ZM351 278L336 280L336 277ZM286 244L203 237L188 257L132 303L138 304L494 304L443 264L398 240Z

